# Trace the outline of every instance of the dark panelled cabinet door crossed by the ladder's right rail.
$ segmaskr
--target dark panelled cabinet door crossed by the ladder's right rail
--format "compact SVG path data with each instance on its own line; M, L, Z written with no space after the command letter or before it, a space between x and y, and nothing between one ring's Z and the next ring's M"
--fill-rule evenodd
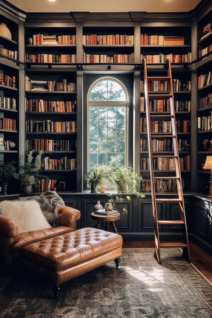
M184 199L186 223L188 228L188 211L189 201ZM166 203L166 220L181 220L180 204L178 202L167 202ZM182 225L166 225L166 232L182 232Z

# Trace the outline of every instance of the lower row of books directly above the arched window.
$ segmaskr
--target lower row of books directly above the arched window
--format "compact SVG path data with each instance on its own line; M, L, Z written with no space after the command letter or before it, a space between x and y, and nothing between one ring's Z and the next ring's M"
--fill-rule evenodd
M83 63L134 63L134 53L131 54L87 54L83 52Z

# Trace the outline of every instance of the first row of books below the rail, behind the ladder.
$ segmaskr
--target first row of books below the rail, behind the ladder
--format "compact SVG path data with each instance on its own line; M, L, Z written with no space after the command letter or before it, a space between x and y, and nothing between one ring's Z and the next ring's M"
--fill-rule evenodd
M144 91L144 80L140 81L140 90ZM168 81L148 81L148 91L151 92L161 92L168 91ZM173 90L175 92L179 91L191 91L191 81L190 80L180 80L173 79Z

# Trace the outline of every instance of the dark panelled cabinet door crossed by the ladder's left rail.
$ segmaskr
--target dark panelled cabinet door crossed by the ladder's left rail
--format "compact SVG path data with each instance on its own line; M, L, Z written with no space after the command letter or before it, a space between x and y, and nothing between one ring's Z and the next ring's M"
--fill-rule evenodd
M158 202L157 206L157 217L158 220L164 220L165 218L165 203ZM159 224L160 232L164 232L166 229L165 225ZM138 212L138 231L140 232L154 232L154 217L152 209L152 200L143 199L139 204Z

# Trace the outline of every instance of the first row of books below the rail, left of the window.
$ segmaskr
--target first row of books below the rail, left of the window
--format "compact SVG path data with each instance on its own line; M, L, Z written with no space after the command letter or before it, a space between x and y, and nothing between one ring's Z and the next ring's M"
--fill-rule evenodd
M25 76L25 89L26 91L74 92L76 91L76 83L67 82L66 79L63 79L62 82L31 80L28 76Z

